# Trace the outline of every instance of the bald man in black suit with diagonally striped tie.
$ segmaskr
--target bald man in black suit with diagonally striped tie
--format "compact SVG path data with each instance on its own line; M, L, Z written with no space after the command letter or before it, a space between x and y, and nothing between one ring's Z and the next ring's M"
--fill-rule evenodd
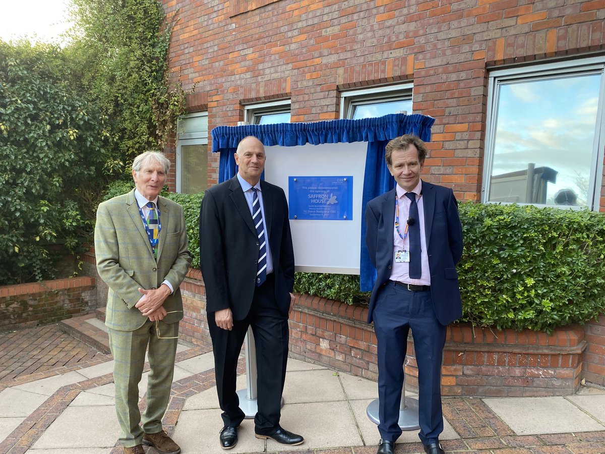
M288 445L302 436L280 426L288 358L288 317L294 304L294 251L283 189L261 181L263 143L241 140L238 174L204 194L200 208L200 263L206 285L208 327L214 349L218 402L224 427L220 444L237 444L244 419L235 380L249 326L257 348L257 438Z

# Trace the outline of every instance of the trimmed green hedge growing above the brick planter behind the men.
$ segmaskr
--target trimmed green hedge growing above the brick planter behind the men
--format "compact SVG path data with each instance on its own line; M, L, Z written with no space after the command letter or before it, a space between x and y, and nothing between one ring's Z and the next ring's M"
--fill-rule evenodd
M203 194L162 195L185 207L192 266L198 268ZM605 215L473 202L461 203L459 211L465 240L457 267L460 321L551 332L605 311ZM295 291L348 304L370 297L359 291L357 275L297 272Z

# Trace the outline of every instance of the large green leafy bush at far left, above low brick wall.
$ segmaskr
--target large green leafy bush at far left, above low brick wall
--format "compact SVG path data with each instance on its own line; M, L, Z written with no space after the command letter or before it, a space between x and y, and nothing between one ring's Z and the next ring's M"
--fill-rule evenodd
M53 45L0 41L0 285L54 277L82 251L105 162L99 110Z

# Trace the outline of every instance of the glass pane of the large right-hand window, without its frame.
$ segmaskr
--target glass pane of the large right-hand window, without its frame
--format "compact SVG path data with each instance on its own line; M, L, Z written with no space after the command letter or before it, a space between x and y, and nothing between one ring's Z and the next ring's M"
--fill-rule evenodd
M601 74L499 86L490 202L590 205Z

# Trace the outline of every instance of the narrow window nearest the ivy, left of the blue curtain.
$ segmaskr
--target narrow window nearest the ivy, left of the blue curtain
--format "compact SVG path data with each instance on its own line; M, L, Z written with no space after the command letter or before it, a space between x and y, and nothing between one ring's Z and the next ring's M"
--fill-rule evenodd
M208 112L178 120L177 192L195 194L208 188Z

